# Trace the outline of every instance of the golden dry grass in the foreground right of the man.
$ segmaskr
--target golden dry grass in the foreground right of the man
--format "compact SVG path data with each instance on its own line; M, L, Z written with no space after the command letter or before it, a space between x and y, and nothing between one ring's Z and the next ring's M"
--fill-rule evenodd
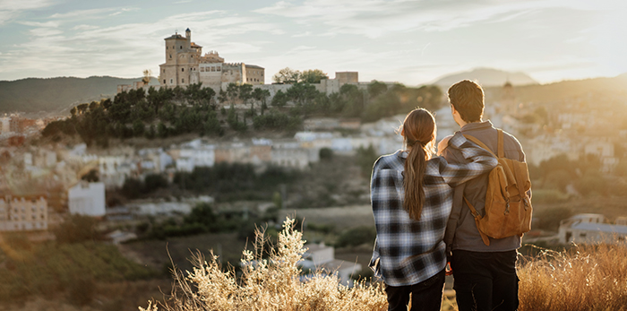
M522 263L520 311L627 310L627 245L543 250Z

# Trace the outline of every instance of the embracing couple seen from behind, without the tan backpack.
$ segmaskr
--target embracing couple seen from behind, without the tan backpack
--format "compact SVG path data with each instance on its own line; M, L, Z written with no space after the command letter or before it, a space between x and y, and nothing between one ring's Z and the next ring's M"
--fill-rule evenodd
M483 121L484 91L464 80L448 91L460 131L438 144L433 115L415 109L400 130L406 149L374 163L371 203L377 239L370 263L385 283L388 310L440 310L447 261L451 263L460 311L516 310L520 237L482 241L465 197L477 212L485 205L487 174L497 159L497 129ZM505 158L525 160L520 143L504 134Z

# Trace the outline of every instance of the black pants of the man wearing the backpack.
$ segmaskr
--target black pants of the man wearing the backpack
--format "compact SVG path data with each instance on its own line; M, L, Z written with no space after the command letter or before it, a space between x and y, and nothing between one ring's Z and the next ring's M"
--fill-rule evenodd
M454 250L453 289L460 311L518 309L516 257L515 250L488 253Z

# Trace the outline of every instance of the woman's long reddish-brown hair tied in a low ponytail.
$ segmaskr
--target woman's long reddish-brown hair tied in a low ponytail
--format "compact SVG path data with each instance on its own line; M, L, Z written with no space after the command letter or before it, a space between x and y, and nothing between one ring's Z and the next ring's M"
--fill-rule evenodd
M405 117L400 134L409 149L403 178L403 186L405 186L403 208L408 212L409 217L420 220L420 214L425 205L423 179L426 161L431 159L434 153L434 116L423 108L412 110Z

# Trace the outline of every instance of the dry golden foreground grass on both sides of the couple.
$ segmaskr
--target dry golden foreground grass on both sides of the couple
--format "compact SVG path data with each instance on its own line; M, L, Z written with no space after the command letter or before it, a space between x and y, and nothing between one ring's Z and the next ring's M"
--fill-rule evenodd
M302 281L298 262L305 253L303 235L287 219L278 246L264 249L258 235L254 250L243 252L242 275L223 271L216 256L195 258L193 272L176 272L167 301L149 302L142 311L195 310L386 310L380 283L339 284L318 272ZM543 250L519 261L520 311L627 310L627 245L575 246L568 251ZM159 306L158 306L159 305ZM446 308L450 309L450 304ZM453 307L453 309L457 309Z

